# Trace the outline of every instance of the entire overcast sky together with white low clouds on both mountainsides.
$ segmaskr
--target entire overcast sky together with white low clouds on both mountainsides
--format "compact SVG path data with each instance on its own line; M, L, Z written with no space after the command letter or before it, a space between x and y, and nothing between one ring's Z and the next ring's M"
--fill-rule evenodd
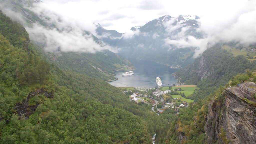
M123 38L132 38L140 35L140 31L130 30L133 26L143 26L147 22L170 15L197 15L197 29L205 34L204 38L197 39L184 35L187 28L177 34L163 39L164 45L172 49L195 47L197 57L210 45L219 41L237 41L250 45L256 43L256 0L42 0L44 3L34 3L28 7L36 13L48 25L47 28L34 23L33 26L25 26L30 38L35 42L45 45L45 50L63 52L91 52L95 53L104 49L118 53L120 48L107 44L99 44L93 40L93 36L85 35L85 31L91 32L100 38L95 32L93 22L109 30L117 30L124 33ZM13 12L12 15L17 15ZM20 18L20 16L18 16ZM166 33L175 28L165 25ZM122 38L120 37L120 38ZM153 38L157 35L153 35ZM175 38L173 38L175 37ZM45 40L42 40L45 39Z

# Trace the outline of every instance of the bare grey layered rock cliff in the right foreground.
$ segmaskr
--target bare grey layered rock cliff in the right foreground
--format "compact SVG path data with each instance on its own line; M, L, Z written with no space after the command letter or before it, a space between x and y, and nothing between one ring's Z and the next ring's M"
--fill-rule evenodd
M256 143L255 83L223 91L225 99L215 98L208 105L205 125L207 143Z

